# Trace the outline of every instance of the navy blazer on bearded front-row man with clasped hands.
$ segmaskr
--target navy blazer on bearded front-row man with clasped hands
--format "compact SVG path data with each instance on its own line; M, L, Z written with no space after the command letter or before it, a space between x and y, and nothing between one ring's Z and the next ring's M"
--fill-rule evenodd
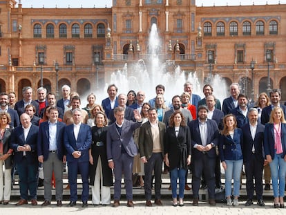
M193 159L201 159L202 151L198 151L198 149L194 148L195 144L202 145L202 140L200 138L200 128L199 121L193 120L189 122L189 129L191 131L191 148L192 148L192 157ZM218 125L214 120L207 120L207 144L213 143L214 146L207 152L207 156L209 158L216 158L216 145L218 145Z

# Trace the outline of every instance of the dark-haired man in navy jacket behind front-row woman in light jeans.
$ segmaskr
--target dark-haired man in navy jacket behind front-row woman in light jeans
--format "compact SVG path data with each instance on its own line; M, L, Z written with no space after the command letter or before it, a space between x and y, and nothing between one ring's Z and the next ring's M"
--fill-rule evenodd
M233 115L236 116L236 121L238 122L237 127L241 128L244 124L247 124L247 96L240 94L238 95L238 106L230 111Z

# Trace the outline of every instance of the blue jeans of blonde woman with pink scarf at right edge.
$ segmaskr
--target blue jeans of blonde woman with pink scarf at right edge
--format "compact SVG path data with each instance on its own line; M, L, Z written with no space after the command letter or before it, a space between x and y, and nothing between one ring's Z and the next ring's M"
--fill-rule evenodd
M280 154L275 154L269 163L274 197L284 197L286 162ZM279 187L278 187L279 179Z

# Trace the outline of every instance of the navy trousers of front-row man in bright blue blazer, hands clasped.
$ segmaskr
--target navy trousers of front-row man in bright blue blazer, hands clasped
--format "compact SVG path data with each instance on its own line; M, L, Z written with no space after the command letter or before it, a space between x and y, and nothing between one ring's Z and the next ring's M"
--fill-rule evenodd
M88 200L88 168L89 162L68 162L68 183L70 184L70 200L77 200L77 172L82 176L82 201ZM56 185L57 186L57 185Z

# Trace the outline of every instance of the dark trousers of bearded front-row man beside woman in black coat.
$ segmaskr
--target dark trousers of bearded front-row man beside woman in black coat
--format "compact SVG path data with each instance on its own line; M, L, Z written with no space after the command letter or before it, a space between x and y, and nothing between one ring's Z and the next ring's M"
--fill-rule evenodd
M209 198L215 198L216 191L216 179L214 175L216 165L216 158L209 158L207 154L202 154L200 159L193 159L193 176L192 176L192 188L193 198L198 198L200 189L200 178L204 173L204 178L207 183L207 190Z

